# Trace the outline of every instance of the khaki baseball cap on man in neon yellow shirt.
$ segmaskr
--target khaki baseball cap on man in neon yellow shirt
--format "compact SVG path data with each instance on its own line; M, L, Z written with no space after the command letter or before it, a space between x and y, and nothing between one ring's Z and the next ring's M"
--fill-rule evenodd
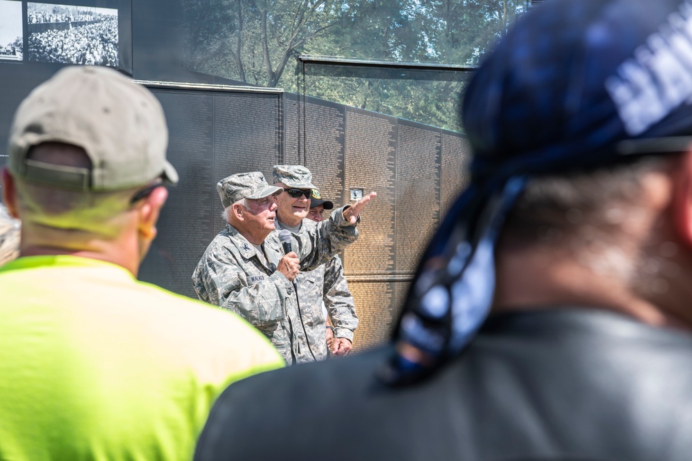
M26 158L43 142L81 147L91 168ZM161 104L144 86L102 66L69 66L37 86L15 113L8 142L12 176L54 187L112 191L155 178L178 182L166 160Z

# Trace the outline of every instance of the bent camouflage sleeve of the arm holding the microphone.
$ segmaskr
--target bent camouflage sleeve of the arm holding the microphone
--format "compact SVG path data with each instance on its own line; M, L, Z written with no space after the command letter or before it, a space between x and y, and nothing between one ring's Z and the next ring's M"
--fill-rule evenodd
M206 254L199 283L209 301L231 310L254 326L267 326L286 317L286 298L294 296L293 285L281 272L248 277L242 261L230 252Z

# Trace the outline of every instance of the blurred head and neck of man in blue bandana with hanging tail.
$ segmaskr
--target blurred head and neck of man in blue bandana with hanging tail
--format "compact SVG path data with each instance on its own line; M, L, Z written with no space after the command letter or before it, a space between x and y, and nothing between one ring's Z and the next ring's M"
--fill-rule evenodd
M552 0L489 53L464 95L473 180L426 251L385 381L435 370L491 307L692 327L691 31L686 1Z

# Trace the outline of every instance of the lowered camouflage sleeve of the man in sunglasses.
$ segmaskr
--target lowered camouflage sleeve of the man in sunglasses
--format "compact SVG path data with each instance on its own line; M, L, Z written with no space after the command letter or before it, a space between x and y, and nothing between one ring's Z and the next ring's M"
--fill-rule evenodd
M353 295L348 290L341 258L334 256L325 266L324 300L329 312L334 336L353 341L358 315Z

